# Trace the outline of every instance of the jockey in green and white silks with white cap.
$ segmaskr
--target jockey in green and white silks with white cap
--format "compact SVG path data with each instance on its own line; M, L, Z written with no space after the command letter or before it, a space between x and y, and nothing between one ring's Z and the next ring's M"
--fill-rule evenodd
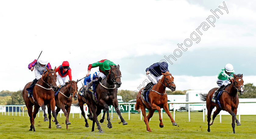
M230 84L229 80L233 80L235 73L234 68L231 64L226 64L225 68L221 69L218 74L217 85L220 86L212 95L214 99L216 99L219 91L224 88L226 85Z

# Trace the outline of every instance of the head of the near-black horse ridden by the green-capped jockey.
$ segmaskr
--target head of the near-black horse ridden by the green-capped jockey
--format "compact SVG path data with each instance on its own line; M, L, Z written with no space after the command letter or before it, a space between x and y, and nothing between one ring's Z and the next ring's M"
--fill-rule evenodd
M121 71L119 70L119 65L118 66L110 66L109 74L111 77L111 81L116 84L116 87L121 86Z

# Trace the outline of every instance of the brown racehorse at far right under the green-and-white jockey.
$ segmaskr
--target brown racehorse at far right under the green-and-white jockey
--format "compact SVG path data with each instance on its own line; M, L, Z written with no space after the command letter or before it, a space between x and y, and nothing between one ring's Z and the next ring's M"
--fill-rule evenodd
M210 125L213 124L213 121L215 117L219 114L221 110L225 110L229 112L230 115L232 115L232 128L233 128L233 133L235 133L235 121L236 125L241 125L240 122L236 119L236 112L237 112L237 107L238 107L238 95L237 91L240 93L240 95L244 94L244 89L243 89L243 74L234 74L234 80L231 80L232 83L227 85L222 92L222 95L220 96L220 106L218 103L212 102L212 95L217 90L218 88L213 88L212 90L209 91L207 95L200 94L201 100L206 101L206 107L208 110L207 113L207 121L208 121L208 132L210 132ZM212 109L216 107L215 112L212 115L212 121L211 120L211 114L212 114Z

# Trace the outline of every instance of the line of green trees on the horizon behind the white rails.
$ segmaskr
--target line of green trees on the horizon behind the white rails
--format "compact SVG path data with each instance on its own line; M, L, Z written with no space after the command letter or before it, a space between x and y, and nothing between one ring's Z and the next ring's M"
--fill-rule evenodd
M176 90L172 92L171 90L166 90L168 95L185 95L187 90ZM122 96L126 102L129 100L136 99L137 92L131 90L118 90L117 95ZM239 95L239 93L238 93ZM247 83L244 85L244 94L239 95L239 98L256 98L256 86L253 83ZM16 92L2 90L0 92L0 105L24 105L25 102L22 97L22 90Z

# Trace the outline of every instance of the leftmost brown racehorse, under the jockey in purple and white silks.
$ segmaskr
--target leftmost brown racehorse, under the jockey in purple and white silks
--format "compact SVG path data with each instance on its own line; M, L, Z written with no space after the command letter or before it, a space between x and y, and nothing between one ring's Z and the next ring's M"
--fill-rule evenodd
M35 132L34 119L40 107L42 107L42 110L44 111L44 121L48 121L47 115L45 113L45 109L46 109L45 105L47 104L50 104L50 107L52 108L52 116L55 119L55 124L57 125L56 127L61 128L56 118L56 113L54 110L55 100L54 100L53 90L57 89L57 85L56 85L57 75L55 73L56 67L54 70L48 69L48 68L46 68L46 70L47 72L43 74L43 76L37 81L37 84L34 86L33 98L28 97L28 92L26 90L29 87L31 82L26 84L22 92L23 99L27 106L27 113L30 117L30 123L31 123L30 131L32 131L32 128L33 128L34 132ZM34 105L34 111L32 112L33 105ZM49 118L50 116L51 114L49 114Z

